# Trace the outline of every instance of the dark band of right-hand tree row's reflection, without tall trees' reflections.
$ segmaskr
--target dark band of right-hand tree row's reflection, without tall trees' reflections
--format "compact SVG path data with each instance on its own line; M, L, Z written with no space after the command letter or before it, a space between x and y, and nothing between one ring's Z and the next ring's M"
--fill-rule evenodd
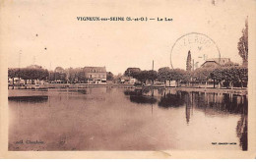
M206 111L208 115L215 115L215 113L247 115L248 99L246 95L166 91L162 89L124 90L124 94L132 96L134 99L136 98L135 100L138 100L138 103L144 103L143 100L147 100L147 98L159 101L158 105L160 108L177 108L186 105L186 109L193 109L195 107ZM157 99L159 97L160 99ZM139 101L140 99L142 102Z

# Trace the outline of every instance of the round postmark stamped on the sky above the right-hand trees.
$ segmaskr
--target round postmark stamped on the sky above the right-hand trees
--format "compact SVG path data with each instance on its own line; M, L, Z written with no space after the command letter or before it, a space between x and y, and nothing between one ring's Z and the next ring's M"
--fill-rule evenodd
M190 32L180 36L172 45L170 51L171 68L185 70L189 51L195 69L208 59L221 58L220 49L211 37L199 32Z

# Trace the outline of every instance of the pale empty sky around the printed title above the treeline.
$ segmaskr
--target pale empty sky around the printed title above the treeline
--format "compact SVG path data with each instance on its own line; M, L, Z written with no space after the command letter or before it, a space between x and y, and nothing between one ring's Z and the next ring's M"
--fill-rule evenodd
M242 0L173 0L173 1L12 1L4 4L5 53L8 67L40 65L48 70L60 66L106 67L114 75L129 67L151 70L185 67L187 51L192 58L207 54L241 63L237 42L245 27L249 3ZM77 17L171 18L171 22L86 22ZM7 21L8 20L8 21ZM216 44L198 43L174 50L179 37L191 32L203 33ZM202 36L204 37L204 36ZM175 46L174 48L176 48Z

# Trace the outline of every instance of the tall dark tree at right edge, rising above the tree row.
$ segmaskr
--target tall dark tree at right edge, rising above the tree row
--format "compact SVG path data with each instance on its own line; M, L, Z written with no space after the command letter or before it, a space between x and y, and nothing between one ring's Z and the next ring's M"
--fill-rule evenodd
M245 28L242 29L242 36L237 43L239 55L243 60L243 65L248 64L248 19L245 21Z

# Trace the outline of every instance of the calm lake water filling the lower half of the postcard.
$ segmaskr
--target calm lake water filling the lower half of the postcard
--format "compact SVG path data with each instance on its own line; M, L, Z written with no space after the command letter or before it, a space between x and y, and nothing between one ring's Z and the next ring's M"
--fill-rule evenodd
M109 87L19 93L27 97L9 98L10 150L247 149L245 95Z

